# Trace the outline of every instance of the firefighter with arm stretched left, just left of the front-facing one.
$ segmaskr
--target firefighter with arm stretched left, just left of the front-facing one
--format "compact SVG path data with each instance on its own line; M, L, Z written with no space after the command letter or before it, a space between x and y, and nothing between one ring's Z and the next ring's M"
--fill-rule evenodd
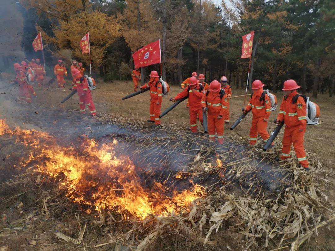
M190 127L191 132L197 132L197 117L202 124L202 107L201 107L201 98L202 98L202 89L200 89L199 81L196 77L191 77L189 86L186 86L185 89L178 93L176 97L172 98L171 101L178 101L184 97L189 97L190 103Z

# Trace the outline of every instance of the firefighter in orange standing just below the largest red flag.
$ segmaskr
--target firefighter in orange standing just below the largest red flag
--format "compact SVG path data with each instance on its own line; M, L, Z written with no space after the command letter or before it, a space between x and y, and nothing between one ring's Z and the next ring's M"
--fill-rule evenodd
M150 88L150 119L148 122L154 122L155 126L160 125L160 107L162 106L162 83L158 81L159 76L156 71L151 71L150 81L139 87L140 89Z

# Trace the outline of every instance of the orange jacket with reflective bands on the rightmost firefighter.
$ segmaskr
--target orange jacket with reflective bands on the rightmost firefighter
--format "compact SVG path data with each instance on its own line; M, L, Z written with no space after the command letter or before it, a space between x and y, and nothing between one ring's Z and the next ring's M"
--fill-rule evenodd
M277 119L282 121L287 127L299 126L299 129L306 129L306 103L303 97L298 97L296 103L292 103L293 97L298 94L296 90L283 97L280 104Z

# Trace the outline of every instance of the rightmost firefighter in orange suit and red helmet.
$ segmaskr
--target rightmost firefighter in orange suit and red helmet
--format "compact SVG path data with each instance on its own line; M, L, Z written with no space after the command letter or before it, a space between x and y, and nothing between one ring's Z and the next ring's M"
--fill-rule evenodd
M304 134L306 131L306 102L301 96L298 96L296 89L300 88L293 79L284 82L283 91L285 96L280 104L279 114L275 123L285 123L283 136L283 148L281 150L281 159L290 157L291 145L298 158L299 163L308 169L308 161L304 148Z

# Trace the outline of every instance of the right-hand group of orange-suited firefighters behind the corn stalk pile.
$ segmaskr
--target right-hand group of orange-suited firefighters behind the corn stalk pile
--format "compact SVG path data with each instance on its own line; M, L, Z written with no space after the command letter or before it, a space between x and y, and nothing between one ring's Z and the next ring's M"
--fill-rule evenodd
M147 84L138 87L138 82L141 75L138 69L133 70L132 79L134 82L134 91L136 88L150 88L150 119L155 126L160 125L160 109L162 103L162 83L159 81L157 71L151 71L150 80ZM193 72L191 77L187 78L181 84L183 91L178 93L170 100L176 102L182 98L188 97L187 107L190 114L190 129L192 133L196 133L197 118L203 123L203 112L207 114L207 126L209 139L215 141L215 134L218 137L218 143L223 143L224 123L229 123L229 99L232 92L231 87L227 82L227 78L222 76L220 82L212 81L209 85L204 82L204 75ZM255 145L258 134L264 142L270 135L267 132L267 124L271 112L271 102L268 94L263 94L264 84L260 80L255 80L252 83L253 94L248 104L243 108L243 112L252 111L253 118L249 133L249 144ZM297 89L300 86L290 79L284 82L284 94L280 105L279 113L275 119L275 123L285 123L283 148L280 155L281 159L290 157L290 149L293 144L294 151L298 161L305 170L308 170L308 161L304 149L304 134L306 131L306 103L305 99L298 96L297 100L293 98L297 96ZM273 146L273 143L272 143Z

